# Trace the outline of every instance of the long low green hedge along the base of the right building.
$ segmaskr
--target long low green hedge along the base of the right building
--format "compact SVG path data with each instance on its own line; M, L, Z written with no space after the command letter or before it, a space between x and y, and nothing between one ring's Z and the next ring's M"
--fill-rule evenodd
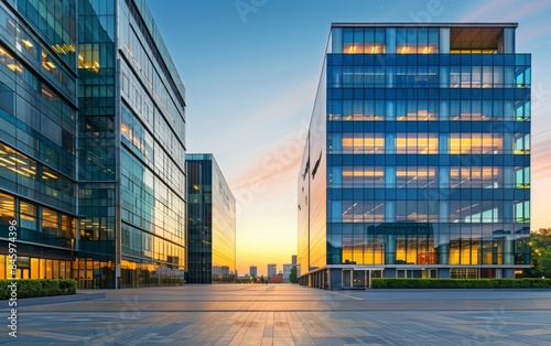
M372 279L371 289L551 289L549 279Z

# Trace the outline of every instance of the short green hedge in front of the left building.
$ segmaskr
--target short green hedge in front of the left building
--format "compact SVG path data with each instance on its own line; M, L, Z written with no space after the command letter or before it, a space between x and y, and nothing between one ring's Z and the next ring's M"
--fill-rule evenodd
M73 279L0 280L0 300L10 299L10 284L13 282L18 284L18 299L76 293L76 281Z

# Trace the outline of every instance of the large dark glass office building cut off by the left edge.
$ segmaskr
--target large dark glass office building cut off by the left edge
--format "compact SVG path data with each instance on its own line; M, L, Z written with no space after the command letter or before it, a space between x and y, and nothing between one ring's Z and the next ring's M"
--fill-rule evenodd
M183 282L185 89L143 0L0 2L0 278ZM10 273L11 274L11 273Z

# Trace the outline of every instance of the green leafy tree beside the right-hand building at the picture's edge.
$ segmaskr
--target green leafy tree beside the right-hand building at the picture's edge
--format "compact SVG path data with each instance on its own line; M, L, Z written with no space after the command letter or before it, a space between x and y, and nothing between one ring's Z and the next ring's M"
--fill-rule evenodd
M530 235L532 262L527 275L551 278L551 228L540 228Z

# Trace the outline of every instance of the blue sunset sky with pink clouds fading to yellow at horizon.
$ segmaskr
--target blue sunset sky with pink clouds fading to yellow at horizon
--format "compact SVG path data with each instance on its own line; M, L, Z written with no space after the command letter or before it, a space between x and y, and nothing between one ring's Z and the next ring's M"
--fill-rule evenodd
M237 270L296 253L296 180L332 22L518 22L532 54L532 229L551 227L548 0L148 0L186 87L187 152L237 199Z

